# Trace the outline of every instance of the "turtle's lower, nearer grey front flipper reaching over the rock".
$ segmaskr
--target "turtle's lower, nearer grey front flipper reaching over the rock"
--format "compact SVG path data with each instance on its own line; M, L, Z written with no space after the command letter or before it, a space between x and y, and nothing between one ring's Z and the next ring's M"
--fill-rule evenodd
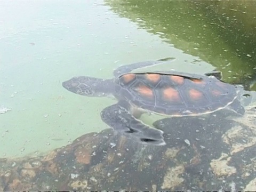
M131 139L150 145L165 145L162 130L154 129L134 118L129 110L122 107L121 102L103 109L101 119L115 131Z

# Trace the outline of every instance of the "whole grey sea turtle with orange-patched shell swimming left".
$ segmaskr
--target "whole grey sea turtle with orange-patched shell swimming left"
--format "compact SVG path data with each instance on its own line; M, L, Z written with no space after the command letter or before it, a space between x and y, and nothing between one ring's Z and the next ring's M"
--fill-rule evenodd
M180 71L132 72L165 63L166 60L143 61L118 67L114 78L77 76L62 83L70 92L86 97L114 95L117 103L101 111L101 119L114 130L139 142L165 145L163 131L142 121L143 113L168 117L199 116L230 109L243 116L236 85L221 81L220 71L204 75Z

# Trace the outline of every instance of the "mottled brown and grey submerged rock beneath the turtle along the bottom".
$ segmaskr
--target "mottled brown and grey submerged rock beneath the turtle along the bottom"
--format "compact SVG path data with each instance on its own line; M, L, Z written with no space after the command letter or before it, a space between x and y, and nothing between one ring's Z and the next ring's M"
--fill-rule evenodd
M253 190L255 107L232 119L158 120L165 146L142 145L107 129L46 155L0 158L0 190Z

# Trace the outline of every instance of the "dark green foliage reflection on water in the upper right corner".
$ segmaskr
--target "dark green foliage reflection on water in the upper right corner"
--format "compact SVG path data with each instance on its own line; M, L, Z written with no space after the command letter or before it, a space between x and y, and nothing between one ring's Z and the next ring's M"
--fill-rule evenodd
M106 2L139 28L211 63L226 81L255 78L255 1Z

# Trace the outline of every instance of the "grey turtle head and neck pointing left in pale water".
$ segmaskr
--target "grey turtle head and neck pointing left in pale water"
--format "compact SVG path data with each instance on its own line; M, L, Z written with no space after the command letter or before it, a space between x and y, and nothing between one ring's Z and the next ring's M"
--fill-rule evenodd
M100 79L95 77L73 77L62 83L68 91L87 97L103 97L111 94L112 79Z

